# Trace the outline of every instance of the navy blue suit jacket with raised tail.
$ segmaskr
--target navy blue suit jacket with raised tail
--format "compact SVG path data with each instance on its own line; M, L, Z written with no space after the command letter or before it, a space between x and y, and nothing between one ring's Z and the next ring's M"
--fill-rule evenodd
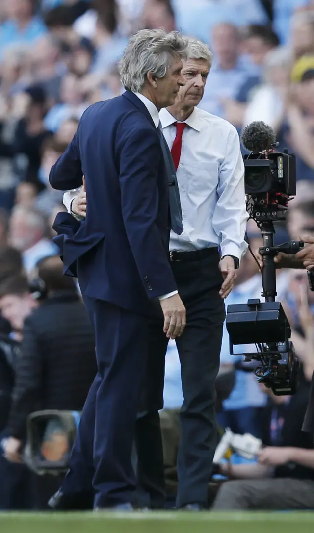
M49 180L54 189L75 189L83 174L86 219L59 213L53 226L64 272L77 275L83 295L147 312L151 300L176 284L162 149L148 110L132 92L84 112Z

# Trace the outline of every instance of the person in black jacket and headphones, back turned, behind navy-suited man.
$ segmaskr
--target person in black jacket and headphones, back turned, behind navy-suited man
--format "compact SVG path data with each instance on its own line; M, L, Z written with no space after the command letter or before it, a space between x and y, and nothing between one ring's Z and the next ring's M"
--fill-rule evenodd
M38 409L81 411L96 374L94 334L73 279L63 277L59 257L43 259L37 268L47 296L23 324L6 428L5 456L12 462L20 461L27 416ZM12 290L8 280L0 290L0 307ZM35 479L36 508L46 507L59 483L60 478Z

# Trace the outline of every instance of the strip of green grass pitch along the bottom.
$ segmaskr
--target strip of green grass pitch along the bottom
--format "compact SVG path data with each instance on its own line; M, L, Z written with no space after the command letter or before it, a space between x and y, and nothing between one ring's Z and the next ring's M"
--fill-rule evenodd
M314 513L0 513L1 533L314 533Z

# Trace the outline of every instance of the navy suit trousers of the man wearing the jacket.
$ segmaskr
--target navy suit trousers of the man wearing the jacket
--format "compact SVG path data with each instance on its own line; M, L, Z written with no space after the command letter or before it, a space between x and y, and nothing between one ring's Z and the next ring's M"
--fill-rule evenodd
M84 301L95 330L98 374L84 405L62 491L93 487L94 505L107 507L132 502L136 488L131 452L147 356L147 322L107 302L86 297Z

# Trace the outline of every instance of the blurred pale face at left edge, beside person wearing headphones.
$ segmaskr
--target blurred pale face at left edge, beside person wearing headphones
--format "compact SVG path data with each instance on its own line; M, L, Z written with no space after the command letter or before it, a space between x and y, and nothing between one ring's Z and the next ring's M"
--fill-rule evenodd
M30 294L16 295L7 294L0 299L0 310L2 316L9 320L12 328L21 331L24 320L35 308L36 303Z

